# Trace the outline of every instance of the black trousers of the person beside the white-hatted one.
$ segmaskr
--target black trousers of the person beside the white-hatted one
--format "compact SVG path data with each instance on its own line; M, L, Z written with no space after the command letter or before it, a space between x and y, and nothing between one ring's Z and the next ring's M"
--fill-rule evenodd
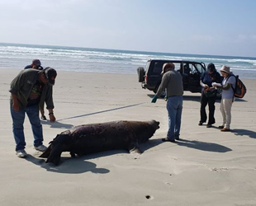
M215 118L214 118L215 102L216 102L216 96L206 97L204 93L201 93L201 107L200 107L201 122L206 122L206 119L207 119L206 105L208 104L209 106L208 124L215 124Z

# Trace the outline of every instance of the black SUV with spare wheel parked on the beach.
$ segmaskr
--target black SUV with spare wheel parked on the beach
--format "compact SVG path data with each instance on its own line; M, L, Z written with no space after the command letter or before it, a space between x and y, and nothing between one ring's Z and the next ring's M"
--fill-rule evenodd
M154 93L158 91L162 80L161 72L164 63L174 63L175 70L182 74L184 91L201 92L200 78L201 73L206 72L206 65L205 63L185 60L148 60L145 69L143 67L137 68L142 88L154 91Z

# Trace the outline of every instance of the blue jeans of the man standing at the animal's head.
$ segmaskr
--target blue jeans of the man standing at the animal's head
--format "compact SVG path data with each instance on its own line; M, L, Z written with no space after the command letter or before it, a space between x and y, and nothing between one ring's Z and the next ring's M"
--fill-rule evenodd
M182 123L183 96L169 96L166 108L168 110L167 138L174 140L179 137Z

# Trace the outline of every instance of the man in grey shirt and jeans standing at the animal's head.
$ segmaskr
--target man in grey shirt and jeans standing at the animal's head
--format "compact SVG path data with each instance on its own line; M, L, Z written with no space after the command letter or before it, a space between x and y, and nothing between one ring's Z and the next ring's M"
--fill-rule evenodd
M162 141L172 143L179 139L183 111L183 77L174 68L173 63L164 63L162 82L151 101L155 103L163 91L167 90L168 133Z

